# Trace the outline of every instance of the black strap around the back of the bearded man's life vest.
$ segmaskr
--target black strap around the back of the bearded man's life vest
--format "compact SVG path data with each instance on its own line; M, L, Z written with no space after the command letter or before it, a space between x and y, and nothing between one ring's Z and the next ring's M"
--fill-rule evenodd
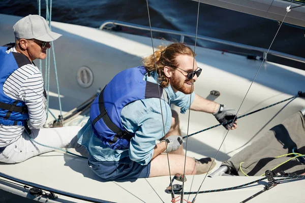
M107 114L107 110L104 105L103 93L104 93L104 89L102 90L102 92L99 95L100 115L94 119L92 124L95 125L96 122L98 122L100 119L103 119L103 121L107 125L107 127L115 133L113 140L108 141L109 145L113 145L119 138L124 138L124 139L130 141L132 138L131 134L129 134L129 132L126 130L121 130L110 120L110 118Z

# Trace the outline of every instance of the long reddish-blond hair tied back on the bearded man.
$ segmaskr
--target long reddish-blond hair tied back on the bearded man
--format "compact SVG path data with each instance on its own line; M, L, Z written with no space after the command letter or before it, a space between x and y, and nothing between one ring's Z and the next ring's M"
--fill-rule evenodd
M159 81L161 87L167 87L169 85L169 78L164 74L164 67L169 66L172 69L176 69L177 66L176 56L188 55L194 57L193 50L182 43L173 43L171 45L159 45L158 50L154 54L142 59L142 63L145 66L147 73L156 71L155 58L157 65L157 73L159 74Z

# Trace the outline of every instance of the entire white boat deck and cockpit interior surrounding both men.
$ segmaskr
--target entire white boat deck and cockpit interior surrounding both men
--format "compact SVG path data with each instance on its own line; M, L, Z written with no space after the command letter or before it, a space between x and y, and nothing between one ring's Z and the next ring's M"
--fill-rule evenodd
M12 26L18 19L20 17L0 14L1 44L13 41ZM63 37L54 43L63 111L70 111L80 105L99 87L104 87L116 73L128 67L140 65L141 57L153 53L151 39L146 37L58 22L52 22L52 30L63 34ZM154 39L155 46L162 42ZM237 110L261 61L200 47L196 47L196 53L198 66L203 71L195 83L195 92ZM76 73L83 65L90 67L95 77L93 85L87 89L80 87L76 80ZM52 77L51 73L50 80L55 81ZM277 103L296 95L299 90L305 91L304 81L304 71L268 61L264 62L240 108L239 115ZM217 90L221 95L212 96L209 94L211 90ZM52 83L50 91L56 92L56 86ZM50 108L58 110L56 94L52 95L50 95ZM222 161L228 160L235 153L257 140L269 128L281 123L304 106L305 100L297 98L242 118L238 120L238 128L229 131L223 144L222 141L227 131L222 126L196 134L188 140L187 155L196 158L215 157L220 149L216 157L217 166L215 168L217 168ZM179 112L178 108L174 109ZM54 113L58 115L57 112ZM191 112L189 132L187 132L188 113L180 114L182 136L216 124L218 124L216 119L209 114ZM127 182L101 182L87 166L85 159L60 152L45 153L18 164L0 163L0 172L54 189L113 202L171 201L171 195L164 192L169 185L169 177ZM187 176L185 191L197 191L204 176ZM206 178L200 190L233 187L257 179L259 177ZM240 190L198 194L196 202L240 202L262 190L265 183L262 181ZM304 202L301 195L304 183L305 181L302 180L279 184L250 202ZM15 186L0 180L0 188L32 198L27 192L23 192L22 186ZM185 195L185 198L189 198L191 201L193 196ZM46 201L43 198L40 200ZM65 196L60 196L57 201L81 202L81 200ZM52 202L52 200L48 200L48 202Z

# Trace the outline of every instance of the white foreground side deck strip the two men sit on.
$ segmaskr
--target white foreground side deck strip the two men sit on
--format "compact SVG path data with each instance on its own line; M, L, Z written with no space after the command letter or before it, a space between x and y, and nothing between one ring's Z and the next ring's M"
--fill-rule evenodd
M127 182L101 182L89 167L86 160L60 152L49 152L28 159L18 164L0 164L1 172L10 174L15 178L28 180L58 190L79 195L103 199L113 202L170 202L171 195L165 193L169 185L169 177L156 177L131 180ZM39 164L37 164L39 163ZM18 165L18 173L16 166ZM22 170L20 170L22 168ZM205 175L187 176L185 191L197 191ZM262 177L206 177L200 191L234 187L258 180ZM181 182L174 181L174 184ZM267 181L247 186L245 189L198 194L196 202L240 202L259 192ZM0 181L0 184L8 183ZM302 192L304 180L282 183L258 195L250 202L303 202ZM20 189L20 188L19 188ZM24 195L28 195L24 193ZM178 195L176 195L178 196ZM185 199L192 201L194 195L185 195ZM56 201L71 200L83 202L59 195ZM50 201L52 202L52 201Z

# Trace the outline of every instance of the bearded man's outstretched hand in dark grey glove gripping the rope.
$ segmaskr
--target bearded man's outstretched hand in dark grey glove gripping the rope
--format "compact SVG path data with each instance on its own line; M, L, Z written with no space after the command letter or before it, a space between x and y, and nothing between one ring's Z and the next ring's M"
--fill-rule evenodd
M232 126L237 125L236 120L233 122L233 119L236 116L236 111L234 109L227 109L225 105L220 105L218 112L213 114L219 123L224 123L223 126L229 130ZM228 122L232 120L231 122ZM226 123L227 122L227 123ZM236 128L236 127L235 127Z

